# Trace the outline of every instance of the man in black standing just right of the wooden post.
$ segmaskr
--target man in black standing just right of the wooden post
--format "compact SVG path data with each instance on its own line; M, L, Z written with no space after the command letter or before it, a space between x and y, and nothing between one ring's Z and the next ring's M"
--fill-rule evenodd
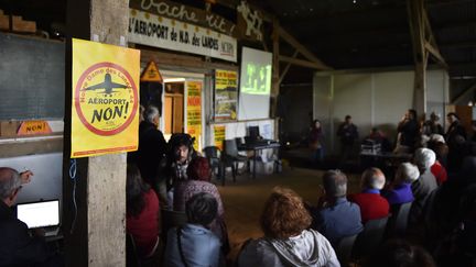
M158 126L159 110L149 105L144 111L144 121L139 125L138 167L142 178L158 192L160 203L166 204L166 182L159 171L166 143Z

